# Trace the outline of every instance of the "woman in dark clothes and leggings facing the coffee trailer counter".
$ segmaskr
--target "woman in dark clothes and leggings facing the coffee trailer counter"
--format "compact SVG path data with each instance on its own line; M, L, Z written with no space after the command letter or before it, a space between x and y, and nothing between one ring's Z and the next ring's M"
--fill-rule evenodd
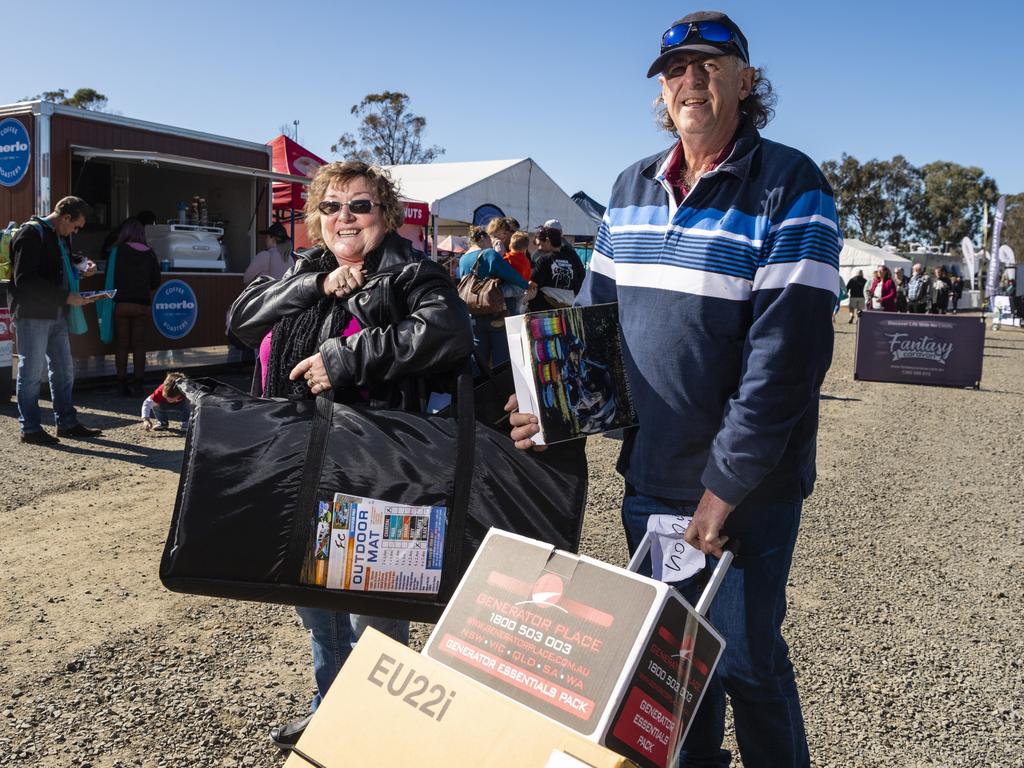
M146 245L145 227L138 219L121 225L111 249L106 268L114 269L114 347L121 394L142 394L146 340L150 336L153 292L160 286L160 262ZM132 379L128 382L128 350L132 353Z

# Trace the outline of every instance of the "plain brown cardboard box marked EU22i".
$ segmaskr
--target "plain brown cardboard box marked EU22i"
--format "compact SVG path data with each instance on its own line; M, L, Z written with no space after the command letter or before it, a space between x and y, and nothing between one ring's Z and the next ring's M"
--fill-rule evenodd
M626 758L367 630L285 768L631 768Z

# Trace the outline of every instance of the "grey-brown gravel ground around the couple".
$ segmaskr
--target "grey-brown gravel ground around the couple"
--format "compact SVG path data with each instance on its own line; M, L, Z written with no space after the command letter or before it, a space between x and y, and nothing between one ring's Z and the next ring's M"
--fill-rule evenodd
M786 621L813 762L1024 766L1024 332L988 332L979 391L855 382L836 341ZM312 686L294 614L165 591L182 437L78 401L103 437L58 450L0 406L0 765L281 765L267 728ZM588 450L583 551L622 564L617 443Z

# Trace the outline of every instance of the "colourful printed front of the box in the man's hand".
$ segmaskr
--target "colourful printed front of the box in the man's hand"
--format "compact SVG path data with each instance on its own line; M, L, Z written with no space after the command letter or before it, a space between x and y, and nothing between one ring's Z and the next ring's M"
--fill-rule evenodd
M547 442L632 426L616 304L525 315Z

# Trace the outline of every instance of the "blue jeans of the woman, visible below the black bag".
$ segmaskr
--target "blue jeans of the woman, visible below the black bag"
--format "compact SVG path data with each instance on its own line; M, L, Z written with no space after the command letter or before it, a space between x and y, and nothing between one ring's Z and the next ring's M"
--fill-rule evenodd
M309 645L313 652L316 695L309 705L310 712L316 712L367 627L373 627L403 645L409 644L409 622L398 618L365 616L326 608L297 607L295 612L302 620L302 626L309 630Z

